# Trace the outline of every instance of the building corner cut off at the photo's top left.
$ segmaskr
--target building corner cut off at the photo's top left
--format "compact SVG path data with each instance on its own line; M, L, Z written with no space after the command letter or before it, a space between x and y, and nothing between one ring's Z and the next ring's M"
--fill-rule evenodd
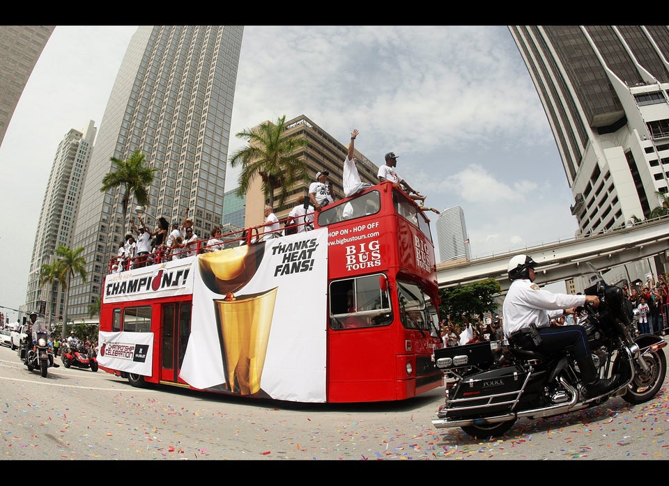
M0 145L55 25L0 26Z

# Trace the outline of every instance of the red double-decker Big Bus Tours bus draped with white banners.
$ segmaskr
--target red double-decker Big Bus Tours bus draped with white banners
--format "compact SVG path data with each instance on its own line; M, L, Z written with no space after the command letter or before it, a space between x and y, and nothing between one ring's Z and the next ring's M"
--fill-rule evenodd
M295 402L405 400L443 384L429 220L390 182L314 229L107 275L100 368L149 383ZM239 244L243 243L243 244ZM110 269L116 258L110 262Z

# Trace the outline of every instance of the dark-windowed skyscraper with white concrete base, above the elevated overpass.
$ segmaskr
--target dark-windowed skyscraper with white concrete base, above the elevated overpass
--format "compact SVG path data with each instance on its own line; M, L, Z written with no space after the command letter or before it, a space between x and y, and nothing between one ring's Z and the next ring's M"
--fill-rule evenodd
M667 194L668 26L509 26L551 125L580 235Z

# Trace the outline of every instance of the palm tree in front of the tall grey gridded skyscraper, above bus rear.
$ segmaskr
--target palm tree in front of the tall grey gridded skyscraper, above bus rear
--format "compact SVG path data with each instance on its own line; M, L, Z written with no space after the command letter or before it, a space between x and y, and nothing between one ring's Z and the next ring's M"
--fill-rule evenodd
M148 205L148 187L153 182L157 168L145 166L144 159L146 159L146 155L139 150L132 152L132 155L125 161L110 157L112 172L105 174L105 177L102 178L100 192L107 192L109 189L116 189L116 187L122 188L121 205L123 207L124 226L125 218L128 217L130 196L134 195L138 205Z

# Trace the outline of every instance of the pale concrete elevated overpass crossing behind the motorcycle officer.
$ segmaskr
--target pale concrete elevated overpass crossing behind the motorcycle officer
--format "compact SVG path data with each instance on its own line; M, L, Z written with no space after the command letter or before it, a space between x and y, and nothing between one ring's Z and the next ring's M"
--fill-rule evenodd
M582 262L591 262L601 272L636 262L643 258L664 255L669 250L669 218L643 221L608 233L578 237L564 242L518 249L475 260L454 260L436 265L440 289L495 279L502 292L509 290L507 263L512 256L525 253L537 262L535 283L544 285L564 281L579 274ZM663 260L664 262L665 260Z

